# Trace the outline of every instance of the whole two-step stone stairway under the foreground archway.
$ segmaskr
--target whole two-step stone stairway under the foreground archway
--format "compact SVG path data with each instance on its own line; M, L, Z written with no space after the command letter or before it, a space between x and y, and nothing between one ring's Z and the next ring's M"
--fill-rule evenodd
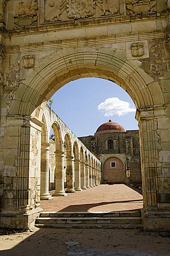
M36 227L55 228L142 228L141 211L42 212Z

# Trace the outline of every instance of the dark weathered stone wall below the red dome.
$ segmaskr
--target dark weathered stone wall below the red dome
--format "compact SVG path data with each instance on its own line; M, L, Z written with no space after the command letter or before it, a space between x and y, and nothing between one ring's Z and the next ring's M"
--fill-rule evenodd
M141 161L139 131L129 130L126 132L106 132L97 133L94 136L79 138L84 145L95 154L100 161L106 161L107 157L124 156L125 170L130 170L128 183L141 183ZM113 140L114 148L108 149L108 140Z

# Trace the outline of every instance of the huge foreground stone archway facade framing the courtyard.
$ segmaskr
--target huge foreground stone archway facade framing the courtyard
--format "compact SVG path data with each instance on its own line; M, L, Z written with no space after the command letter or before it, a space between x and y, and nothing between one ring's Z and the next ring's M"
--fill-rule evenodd
M28 26L21 34L13 29L7 10L6 28L11 31L4 30L4 33L2 29L1 32L1 61L5 67L1 67L4 149L1 163L3 177L10 175L12 189L5 190L2 183L4 213L11 213L12 209L22 217L26 214L23 218L29 219L31 214L35 218L41 211L38 210L37 189L33 191L31 188L37 186L34 171L40 163L35 145L40 147L46 101L71 80L101 77L122 86L137 108L144 228L167 228L165 223L169 223L170 211L170 76L166 15L169 3L157 2L152 10L144 11L140 19L134 6L130 6L129 11L125 2L120 4L119 18L115 13L109 13L109 21L108 17L98 17L99 22L96 22L95 17L91 20L76 15L77 23L67 17L66 23L56 24L54 21L53 25L44 26L41 11L39 23L35 21L33 27ZM31 13L34 17L37 17L36 10ZM131 14L135 14L134 19L129 18ZM4 10L1 15L5 19ZM17 19L19 17L14 17L14 28L19 26ZM82 159L84 161L84 156ZM93 168L96 170L95 161ZM25 189L22 189L21 181L24 181Z

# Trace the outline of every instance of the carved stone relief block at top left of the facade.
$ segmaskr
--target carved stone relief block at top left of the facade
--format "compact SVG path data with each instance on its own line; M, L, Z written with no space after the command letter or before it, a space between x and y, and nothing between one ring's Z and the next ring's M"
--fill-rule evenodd
M18 10L14 15L14 27L23 28L28 26L37 26L37 0L22 0L19 2Z

